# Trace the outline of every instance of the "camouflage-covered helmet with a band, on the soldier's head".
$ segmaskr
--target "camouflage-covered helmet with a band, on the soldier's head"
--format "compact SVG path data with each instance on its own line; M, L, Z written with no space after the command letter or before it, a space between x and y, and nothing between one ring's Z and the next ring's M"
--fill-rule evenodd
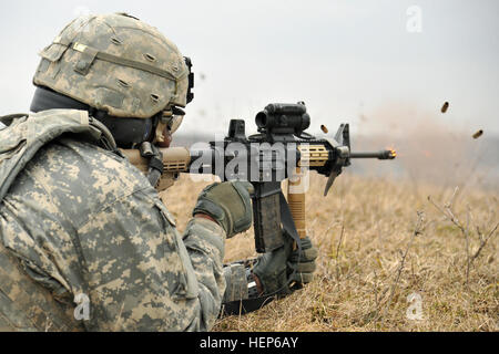
M185 107L189 69L175 44L126 14L83 15L40 52L39 86L116 117Z

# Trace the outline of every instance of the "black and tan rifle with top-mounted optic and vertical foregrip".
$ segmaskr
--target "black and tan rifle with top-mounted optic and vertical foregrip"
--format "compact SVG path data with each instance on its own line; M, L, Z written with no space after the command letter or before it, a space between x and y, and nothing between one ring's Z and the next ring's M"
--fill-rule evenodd
M223 140L206 148L160 148L163 175L157 189L170 187L181 173L212 174L225 180L248 180L255 192L253 222L255 249L264 253L284 244L283 231L295 241L305 238L306 171L327 177L327 196L343 168L356 158L394 159L395 150L353 153L349 125L342 124L333 138L316 138L305 131L310 116L303 102L269 104L256 115L258 133L246 136L245 121L232 119ZM123 150L142 171L150 169L143 149ZM288 179L287 200L282 181Z

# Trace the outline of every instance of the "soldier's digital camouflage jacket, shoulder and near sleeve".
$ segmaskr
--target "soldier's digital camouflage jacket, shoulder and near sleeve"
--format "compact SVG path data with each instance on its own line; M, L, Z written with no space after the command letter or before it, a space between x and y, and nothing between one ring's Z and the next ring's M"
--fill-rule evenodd
M224 239L197 218L181 236L125 158L58 138L0 204L0 330L207 331L225 291ZM79 294L89 321L73 317Z

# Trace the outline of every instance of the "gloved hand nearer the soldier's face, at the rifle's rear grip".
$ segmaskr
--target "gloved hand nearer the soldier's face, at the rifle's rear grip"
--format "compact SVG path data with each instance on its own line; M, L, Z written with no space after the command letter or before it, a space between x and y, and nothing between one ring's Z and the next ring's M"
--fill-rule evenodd
M193 216L207 215L222 226L227 238L231 238L252 226L253 192L253 185L247 181L213 184L201 192Z

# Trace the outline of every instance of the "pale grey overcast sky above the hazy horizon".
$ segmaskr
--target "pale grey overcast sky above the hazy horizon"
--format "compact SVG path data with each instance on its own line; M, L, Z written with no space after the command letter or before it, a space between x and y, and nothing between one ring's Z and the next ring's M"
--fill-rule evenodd
M195 101L184 133L225 132L231 118L253 126L267 103L305 101L315 125L330 129L349 121L356 132L361 116L395 106L400 129L417 110L449 128L499 134L495 0L1 1L0 114L28 111L37 54L69 21L118 11L159 28L192 58ZM381 119L369 124L385 129Z

